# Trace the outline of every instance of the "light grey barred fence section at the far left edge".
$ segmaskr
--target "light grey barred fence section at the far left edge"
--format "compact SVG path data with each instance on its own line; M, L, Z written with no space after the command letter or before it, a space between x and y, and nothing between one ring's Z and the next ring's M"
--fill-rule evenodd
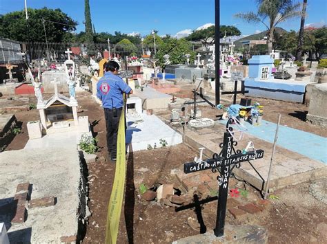
M0 63L20 63L21 45L17 41L0 38Z

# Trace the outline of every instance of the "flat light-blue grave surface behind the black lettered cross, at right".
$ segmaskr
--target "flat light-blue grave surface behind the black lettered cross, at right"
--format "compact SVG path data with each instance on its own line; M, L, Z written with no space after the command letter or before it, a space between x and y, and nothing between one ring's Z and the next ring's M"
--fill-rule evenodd
M226 124L226 120L219 120L219 122ZM262 120L260 126L255 126L248 122L244 122L244 125L248 129L247 133L250 135L254 135L266 142L274 142L277 124ZM278 146L327 164L326 137L282 125L279 125L278 134Z

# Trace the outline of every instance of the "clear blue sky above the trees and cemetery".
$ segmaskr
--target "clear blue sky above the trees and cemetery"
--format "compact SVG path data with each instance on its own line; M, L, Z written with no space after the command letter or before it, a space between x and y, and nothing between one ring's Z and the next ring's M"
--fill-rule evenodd
M300 0L301 1L301 0ZM27 0L30 8L60 8L79 22L84 30L84 0ZM235 25L244 35L263 31L264 25L249 25L235 19L237 12L255 11L255 0L221 0L221 25ZM24 0L0 0L0 14L23 10ZM90 0L92 23L97 32L120 31L147 35L152 29L160 35L183 36L208 23L215 23L215 0ZM308 0L306 24L327 23L327 0ZM298 30L299 19L279 25Z

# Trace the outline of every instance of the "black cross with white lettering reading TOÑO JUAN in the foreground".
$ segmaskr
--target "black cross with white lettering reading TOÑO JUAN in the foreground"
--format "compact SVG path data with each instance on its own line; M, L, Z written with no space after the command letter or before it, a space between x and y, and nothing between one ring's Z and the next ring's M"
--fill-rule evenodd
M226 125L226 132L224 133L224 142L219 144L221 152L215 153L212 159L197 160L197 162L190 162L184 164L184 173L194 173L201 170L211 169L212 172L220 173L217 177L219 184L218 193L218 206L217 206L217 220L215 228L215 236L224 236L225 217L226 217L226 204L228 196L228 181L232 170L241 166L241 162L248 162L250 160L260 159L264 157L264 151L257 149L254 151L240 151L236 150L237 142L234 141L232 135L232 126L235 120L230 118ZM232 154L234 153L234 154Z

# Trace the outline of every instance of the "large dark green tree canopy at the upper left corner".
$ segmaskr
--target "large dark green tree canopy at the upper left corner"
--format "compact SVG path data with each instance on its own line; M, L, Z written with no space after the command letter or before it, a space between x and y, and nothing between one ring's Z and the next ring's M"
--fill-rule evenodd
M46 35L50 42L61 42L69 36L71 38L70 32L76 30L77 22L59 8L56 10L28 8L28 17L29 28L26 27L24 10L0 15L1 37L14 41L28 41L29 35L30 41L45 42L42 19L45 20Z

